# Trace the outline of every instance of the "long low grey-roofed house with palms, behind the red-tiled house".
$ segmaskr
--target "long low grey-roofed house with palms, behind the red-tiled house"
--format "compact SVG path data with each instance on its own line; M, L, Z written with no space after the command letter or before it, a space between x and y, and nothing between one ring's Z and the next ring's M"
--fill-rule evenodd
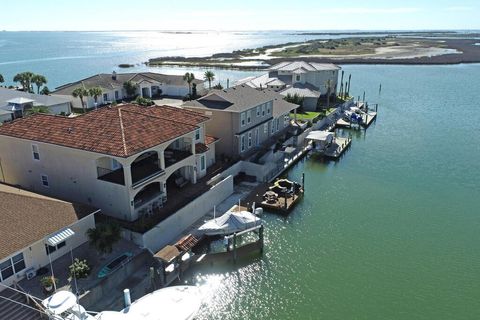
M71 96L72 92L79 88L86 89L99 87L102 89L102 95L97 98L97 104L103 105L112 103L113 101L120 102L123 99L131 98L124 88L125 82L131 82L136 86L133 96L138 95L143 98L155 98L161 95L184 97L189 93L188 83L183 80L183 76L160 74L154 72L141 73L116 73L111 74L101 73L91 77L62 85L55 89L52 93L60 96ZM197 87L197 94L204 94L206 89L202 80L194 79L192 85ZM87 108L95 107L95 100L93 97L86 97ZM74 106L81 108L80 99L74 100Z

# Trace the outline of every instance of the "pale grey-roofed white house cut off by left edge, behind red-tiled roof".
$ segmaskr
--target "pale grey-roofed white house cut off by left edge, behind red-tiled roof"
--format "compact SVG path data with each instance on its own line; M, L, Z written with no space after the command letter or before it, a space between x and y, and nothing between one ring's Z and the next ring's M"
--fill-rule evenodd
M44 106L51 114L69 114L72 97L57 97L0 88L0 123L23 117L32 107Z

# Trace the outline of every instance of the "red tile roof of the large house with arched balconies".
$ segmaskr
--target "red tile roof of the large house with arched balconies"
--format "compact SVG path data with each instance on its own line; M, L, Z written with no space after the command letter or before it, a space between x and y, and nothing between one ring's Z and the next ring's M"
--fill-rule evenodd
M0 126L0 135L128 157L195 131L208 119L169 106L126 104L74 118L36 114Z

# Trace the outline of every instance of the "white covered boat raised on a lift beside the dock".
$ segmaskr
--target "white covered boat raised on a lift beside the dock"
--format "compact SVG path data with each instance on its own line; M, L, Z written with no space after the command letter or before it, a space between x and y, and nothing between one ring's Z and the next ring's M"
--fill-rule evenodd
M222 216L208 220L198 228L207 236L229 235L258 226L262 220L249 211L230 209Z

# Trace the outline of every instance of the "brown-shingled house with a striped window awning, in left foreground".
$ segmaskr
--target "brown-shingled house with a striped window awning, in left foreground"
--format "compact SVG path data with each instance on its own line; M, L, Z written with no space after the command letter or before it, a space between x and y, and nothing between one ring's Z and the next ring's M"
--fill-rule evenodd
M99 210L0 184L0 283L32 278L88 241ZM0 291L4 287L0 286Z

